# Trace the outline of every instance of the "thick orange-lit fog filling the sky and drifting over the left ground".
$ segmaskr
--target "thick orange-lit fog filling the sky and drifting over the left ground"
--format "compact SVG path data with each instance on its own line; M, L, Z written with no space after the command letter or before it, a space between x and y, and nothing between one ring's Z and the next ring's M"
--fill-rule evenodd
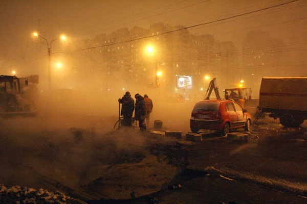
M0 119L1 182L39 188L39 178L29 176L38 173L81 185L95 179L82 179L91 164L143 154L138 124L115 125L126 91L152 99L148 130L161 120L164 130L187 133L193 106L214 78L222 98L224 89L240 85L258 98L262 77L306 77L306 6L1 1L0 75L39 75L38 84L23 88L23 105L34 105L36 116ZM155 52L149 55L148 46ZM178 87L177 75L192 77L192 86Z

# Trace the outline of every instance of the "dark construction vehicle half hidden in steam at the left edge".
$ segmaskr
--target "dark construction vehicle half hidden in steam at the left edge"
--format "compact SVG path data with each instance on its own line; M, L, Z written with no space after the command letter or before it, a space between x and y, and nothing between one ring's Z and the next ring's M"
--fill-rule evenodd
M15 75L0 75L0 116L36 114L34 103L25 101L23 87L28 86L28 79Z

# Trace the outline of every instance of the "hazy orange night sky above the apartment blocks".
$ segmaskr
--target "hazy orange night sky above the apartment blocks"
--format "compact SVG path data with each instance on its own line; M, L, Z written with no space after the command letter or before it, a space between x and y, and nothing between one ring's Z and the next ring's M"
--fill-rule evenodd
M23 69L25 61L35 61L39 32L49 42L64 34L69 39L93 39L120 28L148 29L164 22L190 27L190 34L210 34L218 41L242 46L246 33L268 31L290 47L306 49L306 1L0 1L0 70L10 74ZM52 46L56 46L52 45ZM47 47L47 46L46 46ZM37 50L36 50L37 52ZM42 50L41 55L46 55ZM303 56L302 56L303 57ZM302 61L300 56L292 62ZM31 70L24 70L30 74Z

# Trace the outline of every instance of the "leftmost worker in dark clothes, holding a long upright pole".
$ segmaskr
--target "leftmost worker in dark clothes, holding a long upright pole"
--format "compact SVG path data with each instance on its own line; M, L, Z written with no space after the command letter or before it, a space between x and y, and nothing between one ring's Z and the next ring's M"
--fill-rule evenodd
M118 99L118 102L122 104L122 109L120 112L120 115L124 117L122 125L132 126L132 115L133 111L135 110L135 104L130 92L127 91L122 98Z

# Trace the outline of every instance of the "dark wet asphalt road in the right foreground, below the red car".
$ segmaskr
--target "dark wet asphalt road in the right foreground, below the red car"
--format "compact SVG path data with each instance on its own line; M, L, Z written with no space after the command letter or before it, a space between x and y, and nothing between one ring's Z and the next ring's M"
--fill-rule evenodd
M188 165L173 180L181 188L165 185L151 195L155 203L307 203L307 123L295 129L262 118L251 129L248 142L205 133L203 141L185 147Z

